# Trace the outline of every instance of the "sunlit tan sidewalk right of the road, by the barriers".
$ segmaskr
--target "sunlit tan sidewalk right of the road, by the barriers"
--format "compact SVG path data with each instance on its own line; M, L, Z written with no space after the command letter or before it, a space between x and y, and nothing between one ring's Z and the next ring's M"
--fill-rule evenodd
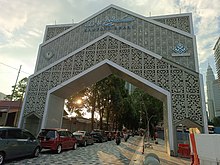
M146 144L146 142L145 142ZM169 156L165 151L164 141L158 139L158 144L154 144L151 141L152 146L150 148L144 148L143 152L143 137L139 141L139 145L137 146L136 152L133 155L131 162L129 165L142 165L145 156L148 153L155 153L160 158L161 165L190 165L191 160L180 157L172 157Z

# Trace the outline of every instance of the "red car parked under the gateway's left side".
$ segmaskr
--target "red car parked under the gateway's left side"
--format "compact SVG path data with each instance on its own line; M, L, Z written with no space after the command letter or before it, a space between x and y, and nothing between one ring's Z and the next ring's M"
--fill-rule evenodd
M67 129L52 128L42 129L38 135L41 147L50 149L56 153L61 153L64 149L76 149L77 140Z

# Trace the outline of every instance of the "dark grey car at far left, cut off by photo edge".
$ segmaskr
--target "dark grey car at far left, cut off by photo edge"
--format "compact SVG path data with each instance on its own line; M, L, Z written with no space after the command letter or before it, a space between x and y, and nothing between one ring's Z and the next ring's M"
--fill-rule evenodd
M0 164L5 160L39 156L39 140L28 130L16 127L0 127Z

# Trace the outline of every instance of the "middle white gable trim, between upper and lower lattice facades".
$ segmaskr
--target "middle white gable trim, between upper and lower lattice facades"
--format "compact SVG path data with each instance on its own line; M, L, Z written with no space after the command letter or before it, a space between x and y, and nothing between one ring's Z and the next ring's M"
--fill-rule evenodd
M98 37L98 38L92 40L91 42L89 42L89 43L83 45L82 47L78 48L77 50L71 52L70 54L66 55L65 57L63 57L63 58L61 58L61 59L55 61L54 63L51 63L50 65L46 66L46 67L43 68L43 69L37 71L36 73L34 73L33 75L31 75L30 78L32 78L32 77L34 77L34 76L36 76L36 75L38 75L38 74L40 74L40 73L46 71L47 69L51 68L52 66L54 66L54 65L56 65L56 64L58 64L58 63L60 63L60 62L62 62L63 60L65 60L65 59L69 58L70 56L72 56L72 55L74 55L74 54L76 54L76 53L82 51L83 49L87 48L88 46L90 46L90 45L92 45L92 44L98 42L99 40L101 40L101 39L103 39L103 38L105 38L105 37L107 37L107 36L110 36L110 37L112 37L112 38L115 38L115 39L117 39L117 40L119 40L119 41L121 41L121 42L123 42L123 43L125 43L125 44L128 44L128 45L130 45L130 46L132 46L132 47L134 47L134 48L136 48L136 49L138 49L138 50L140 50L140 51L142 51L142 52L145 52L145 53L147 53L147 54L149 54L149 55L151 55L151 56L153 56L153 57L155 57L155 58L157 58L157 59L161 59L161 58L162 58L162 56L160 56L160 55L158 55L158 54L156 54L156 53L154 53L154 52L151 52L151 51L149 51L149 50L147 50L147 49L145 49L145 48L143 48L143 47L141 47L141 46L139 46L139 45L136 45L136 44L134 44L134 43L132 43L132 42L130 42L130 41L127 41L127 40L125 40L125 39L123 39L123 38L121 38L121 37L119 37L119 36L117 36L117 35L115 35L115 34L112 34L112 33L110 33L110 32L107 32L107 33L101 35L100 37Z

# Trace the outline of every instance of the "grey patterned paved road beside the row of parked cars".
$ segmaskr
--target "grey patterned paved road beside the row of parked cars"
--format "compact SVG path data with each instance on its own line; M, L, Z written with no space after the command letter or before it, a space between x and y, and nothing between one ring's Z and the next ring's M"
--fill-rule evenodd
M76 150L63 151L60 154L51 153L48 150L43 150L37 158L16 159L6 162L7 165L127 165L132 160L141 137L130 137L127 142L117 146L115 141L104 143L95 143L87 147L78 147Z

